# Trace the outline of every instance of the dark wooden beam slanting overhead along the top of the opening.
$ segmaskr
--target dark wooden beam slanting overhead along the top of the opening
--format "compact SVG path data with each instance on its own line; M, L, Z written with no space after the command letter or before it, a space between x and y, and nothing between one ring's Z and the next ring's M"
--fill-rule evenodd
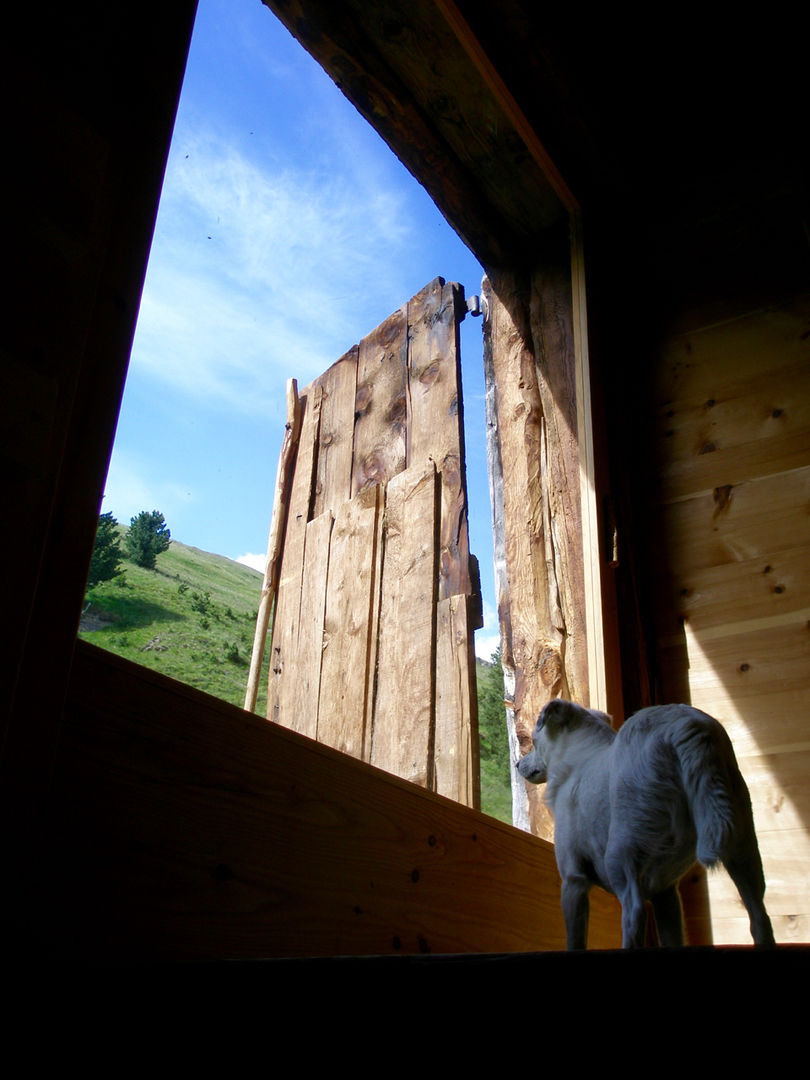
M576 201L455 3L264 0L490 269Z

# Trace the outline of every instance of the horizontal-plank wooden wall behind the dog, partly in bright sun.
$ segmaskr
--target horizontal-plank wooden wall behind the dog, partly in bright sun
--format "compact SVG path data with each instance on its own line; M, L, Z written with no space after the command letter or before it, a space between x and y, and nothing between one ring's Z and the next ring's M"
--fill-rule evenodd
M659 700L723 721L779 942L810 935L810 298L670 337L657 367ZM744 943L725 872L715 943Z

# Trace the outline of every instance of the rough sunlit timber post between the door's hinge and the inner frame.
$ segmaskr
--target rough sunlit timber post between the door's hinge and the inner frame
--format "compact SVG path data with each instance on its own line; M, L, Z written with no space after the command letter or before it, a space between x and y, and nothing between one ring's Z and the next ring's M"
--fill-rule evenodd
M591 699L567 246L530 274L490 274L483 294L501 654L510 738L525 753L546 701ZM513 791L515 824L550 838L542 792L516 774Z

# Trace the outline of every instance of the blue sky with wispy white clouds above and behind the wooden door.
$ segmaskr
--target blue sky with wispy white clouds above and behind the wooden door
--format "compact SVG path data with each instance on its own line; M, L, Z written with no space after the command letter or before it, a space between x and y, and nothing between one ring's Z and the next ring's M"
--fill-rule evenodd
M261 566L289 377L482 268L260 0L200 0L103 511ZM461 326L471 549L497 645L481 319Z

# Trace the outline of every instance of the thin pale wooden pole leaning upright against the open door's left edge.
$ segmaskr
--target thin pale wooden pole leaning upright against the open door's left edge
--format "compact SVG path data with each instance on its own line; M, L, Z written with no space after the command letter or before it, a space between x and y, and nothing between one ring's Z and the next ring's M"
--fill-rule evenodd
M261 661L265 658L265 644L270 624L270 612L279 582L279 563L284 538L284 525L287 516L289 478L295 459L295 450L298 445L300 421L301 407L298 401L298 383L295 379L287 379L287 422L284 432L284 442L281 445L281 456L279 457L279 471L275 476L273 515L270 521L270 537L267 543L265 580L261 584L261 599L259 600L259 611L256 619L256 633L253 639L253 653L251 656L251 672L247 676L247 692L245 693L245 708L249 713L256 708L259 673L261 671Z

